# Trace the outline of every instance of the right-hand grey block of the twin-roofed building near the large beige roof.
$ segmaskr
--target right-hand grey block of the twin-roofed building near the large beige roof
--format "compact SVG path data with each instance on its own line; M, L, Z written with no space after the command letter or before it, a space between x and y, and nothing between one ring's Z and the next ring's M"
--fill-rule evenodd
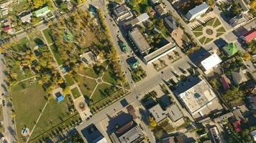
M166 109L166 112L168 112L169 117L173 120L173 122L183 117L183 114L180 112L180 109L176 104L170 105L170 107Z

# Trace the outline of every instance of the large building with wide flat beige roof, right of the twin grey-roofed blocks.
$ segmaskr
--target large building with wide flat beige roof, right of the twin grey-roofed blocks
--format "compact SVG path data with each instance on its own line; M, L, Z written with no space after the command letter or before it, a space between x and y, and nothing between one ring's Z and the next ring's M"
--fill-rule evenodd
M201 80L201 82L190 89L187 89L185 92L178 94L178 99L180 99L180 102L192 115L199 113L201 116L211 112L208 110L204 111L204 109L211 110L212 106L216 108L216 105L214 105L214 99L216 99L215 102L218 101L216 94L205 79Z

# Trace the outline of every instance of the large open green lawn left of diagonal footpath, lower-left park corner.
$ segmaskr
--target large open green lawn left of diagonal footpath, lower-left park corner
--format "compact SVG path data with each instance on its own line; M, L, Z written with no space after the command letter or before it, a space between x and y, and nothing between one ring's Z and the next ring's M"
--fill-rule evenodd
M27 83L24 83L27 86ZM16 112L16 126L19 142L22 142L23 127L28 127L30 130L35 125L37 118L42 111L42 108L47 102L45 99L45 91L39 84L33 84L32 86L22 89L22 86L17 85L12 87L12 103Z

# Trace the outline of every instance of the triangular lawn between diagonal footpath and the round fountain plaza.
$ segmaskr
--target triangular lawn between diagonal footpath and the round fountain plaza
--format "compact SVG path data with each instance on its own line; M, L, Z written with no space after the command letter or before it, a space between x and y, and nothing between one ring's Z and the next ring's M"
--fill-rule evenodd
M70 106L71 102L68 97L65 97L62 102L57 102L56 100L48 102L39 122L37 122L37 127L35 127L34 132L32 132L31 138L42 134L47 129L51 129L56 124L60 124L63 120L72 116L68 111L68 107Z

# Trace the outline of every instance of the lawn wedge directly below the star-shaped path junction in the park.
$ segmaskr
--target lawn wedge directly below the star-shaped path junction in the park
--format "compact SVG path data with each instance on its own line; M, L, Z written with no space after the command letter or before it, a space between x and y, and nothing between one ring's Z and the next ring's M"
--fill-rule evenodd
M91 97L92 101L95 103L95 102L99 102L101 99L109 97L110 95L104 92L106 91L106 89L110 87L112 86L109 84L104 84L104 83L99 84L97 89L93 93L93 96Z

